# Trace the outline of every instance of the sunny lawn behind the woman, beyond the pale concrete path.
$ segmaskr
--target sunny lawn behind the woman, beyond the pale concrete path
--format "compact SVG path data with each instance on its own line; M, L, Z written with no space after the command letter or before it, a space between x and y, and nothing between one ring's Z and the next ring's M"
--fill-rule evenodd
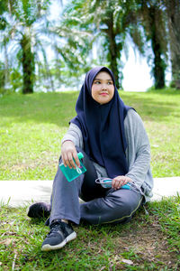
M154 177L180 176L180 92L120 92L142 117ZM52 180L78 92L0 98L0 180Z

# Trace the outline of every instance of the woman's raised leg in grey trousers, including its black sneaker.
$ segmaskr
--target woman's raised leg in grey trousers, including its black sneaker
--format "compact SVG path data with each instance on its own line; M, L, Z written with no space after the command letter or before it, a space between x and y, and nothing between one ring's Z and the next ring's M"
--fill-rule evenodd
M71 220L76 224L79 223L80 204L78 196L81 188L83 188L82 184L86 182L88 184L88 188L91 189L91 182L94 184L94 177L96 177L96 174L94 175L94 171L93 173L91 172L90 161L86 161L87 157L85 158L85 166L89 166L86 174L81 174L72 182L67 182L66 177L58 167L51 195L51 212L49 217L50 231L42 243L42 251L62 248L67 244L67 242L76 238L76 232L71 225L67 223L67 220ZM61 160L59 162L61 163ZM86 188L85 192L87 192ZM86 195L86 198L89 197L88 193L86 193Z

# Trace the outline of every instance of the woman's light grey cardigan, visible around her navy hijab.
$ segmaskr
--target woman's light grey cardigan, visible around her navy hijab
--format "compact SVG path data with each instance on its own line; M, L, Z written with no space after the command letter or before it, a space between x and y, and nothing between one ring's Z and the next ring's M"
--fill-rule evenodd
M142 120L133 109L128 111L124 119L124 128L127 141L126 158L129 166L129 172L126 176L142 188L145 201L149 201L153 188L153 177L150 170L150 145ZM70 124L61 143L67 140L84 149L81 130L73 123ZM98 177L107 177L105 168L96 163L94 163L94 167Z

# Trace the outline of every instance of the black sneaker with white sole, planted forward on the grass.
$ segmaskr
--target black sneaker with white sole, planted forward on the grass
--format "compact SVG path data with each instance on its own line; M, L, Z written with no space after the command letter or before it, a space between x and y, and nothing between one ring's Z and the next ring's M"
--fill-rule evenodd
M72 227L61 220L53 220L50 231L42 243L41 250L49 251L63 248L67 242L76 238L76 232Z

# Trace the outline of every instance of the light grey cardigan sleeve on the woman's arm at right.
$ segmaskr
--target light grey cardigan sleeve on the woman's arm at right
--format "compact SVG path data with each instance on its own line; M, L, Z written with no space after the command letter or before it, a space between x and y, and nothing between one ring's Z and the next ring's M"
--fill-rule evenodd
M124 128L128 145L126 157L129 164L129 172L126 175L141 186L150 168L148 135L141 118L133 109L128 111Z

